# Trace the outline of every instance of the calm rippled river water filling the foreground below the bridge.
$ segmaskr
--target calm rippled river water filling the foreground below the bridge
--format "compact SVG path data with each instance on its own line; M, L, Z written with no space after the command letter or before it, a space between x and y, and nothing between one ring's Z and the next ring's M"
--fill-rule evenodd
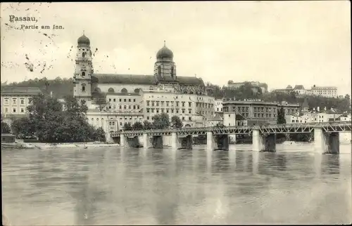
M352 222L351 145L250 149L3 150L3 214L11 225Z

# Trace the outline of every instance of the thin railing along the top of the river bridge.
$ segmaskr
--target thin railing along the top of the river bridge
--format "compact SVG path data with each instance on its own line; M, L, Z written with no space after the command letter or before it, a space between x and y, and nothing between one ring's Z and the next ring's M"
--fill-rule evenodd
M312 127L312 126L344 126L351 125L351 121L331 121L331 122L313 122L313 123L296 123L296 124L275 124L275 125L262 125L259 128L299 128L299 127ZM184 127L184 128L165 128L165 129L151 129L151 130L139 130L139 131L115 131L112 132L114 135L134 135L136 133L181 133L187 131L218 131L218 130L234 130L234 129L249 129L255 126L208 126L208 127Z

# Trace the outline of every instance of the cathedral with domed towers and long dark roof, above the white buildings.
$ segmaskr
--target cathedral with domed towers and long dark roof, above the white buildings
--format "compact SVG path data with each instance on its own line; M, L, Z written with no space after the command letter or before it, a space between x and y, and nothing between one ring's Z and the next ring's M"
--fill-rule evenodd
M84 34L77 40L74 95L91 102L95 93L139 93L167 89L172 93L205 94L202 79L177 76L173 53L164 46L156 53L153 74L94 74L90 41Z

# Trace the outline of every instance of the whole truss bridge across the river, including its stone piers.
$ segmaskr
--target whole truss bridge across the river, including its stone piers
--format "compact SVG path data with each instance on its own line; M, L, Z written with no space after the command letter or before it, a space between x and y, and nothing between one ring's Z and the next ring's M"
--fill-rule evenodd
M121 146L163 148L163 136L171 135L171 147L191 149L192 135L206 135L208 149L228 150L229 135L251 134L253 151L275 152L277 133L314 133L315 150L339 153L339 133L351 131L351 121L333 121L308 124L277 124L265 126L212 126L167 128L141 131L115 131L111 138L119 138Z

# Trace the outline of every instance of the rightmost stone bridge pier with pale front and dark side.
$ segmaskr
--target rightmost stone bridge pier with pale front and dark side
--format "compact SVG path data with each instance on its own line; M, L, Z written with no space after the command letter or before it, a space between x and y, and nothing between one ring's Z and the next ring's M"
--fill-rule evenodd
M339 154L339 133L327 133L322 127L314 128L314 150L320 154Z

